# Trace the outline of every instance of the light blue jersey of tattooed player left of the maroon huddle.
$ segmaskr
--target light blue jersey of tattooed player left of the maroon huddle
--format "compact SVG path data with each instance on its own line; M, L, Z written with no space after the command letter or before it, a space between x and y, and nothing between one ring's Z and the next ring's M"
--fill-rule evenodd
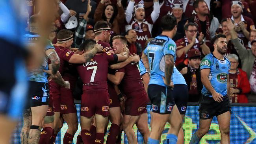
M24 38L31 44L33 43L32 41L37 41L38 37L40 37L40 35L37 35L37 34L24 35ZM50 48L55 49L52 42L47 40L47 45L45 47L45 51ZM36 82L40 82L40 83L48 83L48 80L47 80L48 74L46 72L44 72L43 70L49 70L47 56L44 58L43 63L41 64L40 68L34 69L28 73L28 80L36 81Z

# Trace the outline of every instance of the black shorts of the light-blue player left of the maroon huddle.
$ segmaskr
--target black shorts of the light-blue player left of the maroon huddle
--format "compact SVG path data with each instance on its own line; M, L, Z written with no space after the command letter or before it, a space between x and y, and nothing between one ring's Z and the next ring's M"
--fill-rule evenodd
M41 105L49 104L49 87L48 83L40 83L36 81L29 81L30 89L29 89L29 107L37 107Z

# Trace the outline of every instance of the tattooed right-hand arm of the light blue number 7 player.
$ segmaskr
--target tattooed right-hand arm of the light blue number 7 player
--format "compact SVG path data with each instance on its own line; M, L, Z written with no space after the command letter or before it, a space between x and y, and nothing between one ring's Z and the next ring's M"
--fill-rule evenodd
M165 85L171 85L171 77L173 74L174 57L171 54L165 55Z

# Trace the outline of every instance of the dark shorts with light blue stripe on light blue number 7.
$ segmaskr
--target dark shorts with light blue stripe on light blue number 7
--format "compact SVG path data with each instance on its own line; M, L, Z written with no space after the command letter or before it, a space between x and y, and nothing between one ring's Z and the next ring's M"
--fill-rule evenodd
M148 98L152 103L152 112L170 114L175 105L173 90L161 85L148 85Z

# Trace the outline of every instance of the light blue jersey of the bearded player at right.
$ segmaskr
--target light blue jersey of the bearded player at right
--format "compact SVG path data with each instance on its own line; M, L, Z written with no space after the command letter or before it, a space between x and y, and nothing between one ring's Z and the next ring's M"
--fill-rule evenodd
M211 86L216 92L223 96L227 94L227 76L230 69L230 62L226 57L224 60L217 59L212 53L206 55L200 64L200 69L210 68L210 74L208 76ZM211 93L204 87L202 94L212 97Z

